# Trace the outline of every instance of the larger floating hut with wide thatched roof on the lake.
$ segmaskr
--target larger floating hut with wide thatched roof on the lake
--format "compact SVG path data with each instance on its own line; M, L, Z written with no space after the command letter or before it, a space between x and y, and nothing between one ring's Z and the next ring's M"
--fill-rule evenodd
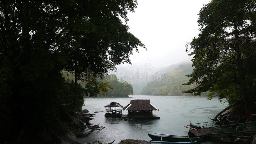
M160 119L153 115L153 110L159 110L150 103L149 99L131 99L130 104L125 106L123 110L128 110L128 115L123 115L127 118L149 118Z

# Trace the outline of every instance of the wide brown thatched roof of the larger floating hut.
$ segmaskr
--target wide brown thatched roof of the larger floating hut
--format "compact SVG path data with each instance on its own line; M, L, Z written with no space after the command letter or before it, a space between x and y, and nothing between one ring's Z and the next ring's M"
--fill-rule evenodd
M123 110L159 110L150 103L149 99L131 99L131 102Z

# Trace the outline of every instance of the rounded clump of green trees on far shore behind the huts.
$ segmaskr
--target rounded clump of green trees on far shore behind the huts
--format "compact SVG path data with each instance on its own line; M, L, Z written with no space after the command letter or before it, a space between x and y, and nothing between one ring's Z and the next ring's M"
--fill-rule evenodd
M106 75L104 81L108 82L110 88L108 88L108 93L105 96L113 97L128 97L133 94L132 84L127 82L119 81L116 75Z

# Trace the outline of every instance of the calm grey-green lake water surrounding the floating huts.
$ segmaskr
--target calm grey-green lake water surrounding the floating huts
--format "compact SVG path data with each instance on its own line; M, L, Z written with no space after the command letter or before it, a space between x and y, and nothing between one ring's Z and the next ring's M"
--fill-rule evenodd
M118 102L122 106L130 103L130 99L150 99L151 103L159 109L153 114L160 116L158 120L134 120L123 121L120 118L106 118L104 106L111 102ZM115 144L124 139L147 140L148 133L166 133L173 135L188 135L188 128L183 126L192 123L211 121L220 110L227 107L227 104L221 104L218 99L207 100L207 97L185 97L185 96L142 96L133 95L129 98L85 98L85 106L89 113L95 111L104 111L95 113L92 124L99 124L106 128L93 131L88 137L80 138L83 143L102 140L110 142L115 140ZM128 111L123 111L127 114ZM89 132L85 129L83 132ZM204 140L202 144L215 144L217 142Z

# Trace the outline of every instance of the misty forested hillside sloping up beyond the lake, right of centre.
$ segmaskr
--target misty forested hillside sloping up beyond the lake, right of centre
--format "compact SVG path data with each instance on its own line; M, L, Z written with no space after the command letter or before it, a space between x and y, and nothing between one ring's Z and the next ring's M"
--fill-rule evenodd
M149 82L142 90L143 95L168 95L168 96L187 96L188 93L181 93L182 91L189 90L194 85L182 85L188 82L189 78L186 75L190 74L193 70L191 63L183 63L179 65L172 65L162 69L161 77ZM207 93L202 93L207 95Z

